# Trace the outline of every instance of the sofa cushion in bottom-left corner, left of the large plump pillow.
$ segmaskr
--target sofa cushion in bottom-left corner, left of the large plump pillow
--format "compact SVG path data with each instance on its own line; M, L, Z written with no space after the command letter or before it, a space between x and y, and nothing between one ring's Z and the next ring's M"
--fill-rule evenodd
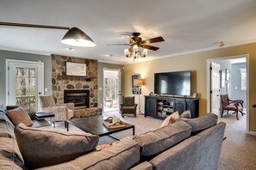
M0 137L0 169L26 169L15 139Z

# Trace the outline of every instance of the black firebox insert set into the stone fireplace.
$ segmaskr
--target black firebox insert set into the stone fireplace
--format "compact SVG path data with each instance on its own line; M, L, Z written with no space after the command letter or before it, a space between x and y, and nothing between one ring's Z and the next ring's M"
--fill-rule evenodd
M64 103L74 103L75 109L90 108L90 89L64 90Z

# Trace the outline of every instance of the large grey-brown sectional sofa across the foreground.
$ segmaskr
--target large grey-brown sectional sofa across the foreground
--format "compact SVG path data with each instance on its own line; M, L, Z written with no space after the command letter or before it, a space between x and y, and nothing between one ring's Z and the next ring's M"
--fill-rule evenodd
M179 118L174 124L126 137L107 149L91 151L57 165L39 167L61 170L217 169L226 124L216 123L217 116L211 113L200 118ZM16 140L19 139L15 137L14 126L0 112L0 169L28 169Z

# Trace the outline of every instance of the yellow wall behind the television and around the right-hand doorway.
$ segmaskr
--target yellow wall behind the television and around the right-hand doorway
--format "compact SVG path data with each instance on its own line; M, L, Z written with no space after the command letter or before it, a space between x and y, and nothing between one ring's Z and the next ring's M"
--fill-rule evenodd
M163 49L162 49L163 50ZM145 86L142 87L142 95L140 95L140 105L144 111L144 97L153 92L154 73L191 70L192 84L191 93L197 92L199 102L199 114L203 115L207 112L207 87L206 87L206 64L209 58L225 58L229 56L249 54L249 112L250 125L249 131L256 131L256 109L252 107L256 103L256 43L232 46L211 50L208 52L197 52L192 54L180 55L172 58L163 58L138 64L128 64L124 66L124 95L132 94L131 76L140 74L145 79ZM136 97L138 100L138 97Z

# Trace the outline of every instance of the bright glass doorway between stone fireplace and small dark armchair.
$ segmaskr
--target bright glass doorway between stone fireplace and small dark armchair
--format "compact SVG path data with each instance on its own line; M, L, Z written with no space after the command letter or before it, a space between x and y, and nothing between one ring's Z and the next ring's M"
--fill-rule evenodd
M103 112L119 111L120 70L103 68Z

